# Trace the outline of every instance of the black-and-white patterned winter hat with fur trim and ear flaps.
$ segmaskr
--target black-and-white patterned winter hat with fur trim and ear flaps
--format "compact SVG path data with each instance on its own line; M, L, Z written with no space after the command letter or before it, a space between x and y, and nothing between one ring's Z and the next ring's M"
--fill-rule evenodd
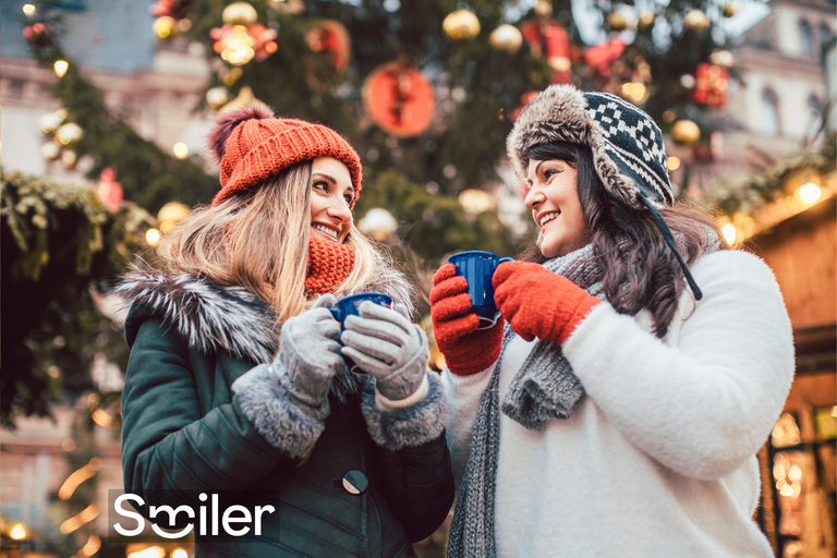
M619 97L582 93L572 85L542 92L520 112L506 143L518 177L526 174L529 149L550 142L589 146L605 187L632 207L645 207L639 194L653 203L674 203L663 133Z

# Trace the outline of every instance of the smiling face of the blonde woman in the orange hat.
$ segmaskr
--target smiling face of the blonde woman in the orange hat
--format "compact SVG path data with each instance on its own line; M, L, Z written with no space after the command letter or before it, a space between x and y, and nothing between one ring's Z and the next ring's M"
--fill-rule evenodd
M343 242L352 228L354 187L349 168L332 157L317 157L311 165L311 234Z

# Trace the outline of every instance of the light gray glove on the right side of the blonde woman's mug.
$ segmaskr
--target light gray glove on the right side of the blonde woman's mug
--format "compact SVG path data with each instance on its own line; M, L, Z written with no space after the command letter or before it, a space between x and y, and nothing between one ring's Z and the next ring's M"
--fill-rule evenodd
M375 387L387 399L407 399L422 386L427 369L427 337L411 324L407 308L390 310L372 302L349 316L340 336L343 354L375 377Z

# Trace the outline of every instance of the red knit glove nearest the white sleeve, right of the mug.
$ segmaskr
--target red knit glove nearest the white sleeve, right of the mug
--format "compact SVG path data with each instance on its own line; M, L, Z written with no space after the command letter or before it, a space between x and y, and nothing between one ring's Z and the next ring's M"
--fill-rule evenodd
M538 338L562 344L602 302L566 277L527 262L500 264L493 283L497 310L526 341Z

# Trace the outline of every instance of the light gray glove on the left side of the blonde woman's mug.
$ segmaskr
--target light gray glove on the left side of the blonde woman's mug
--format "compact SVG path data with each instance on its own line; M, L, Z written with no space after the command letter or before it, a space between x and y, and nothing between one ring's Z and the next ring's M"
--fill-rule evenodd
M287 319L272 362L288 391L312 407L325 401L331 378L345 369L340 353L340 324L328 311L336 303L333 294L324 294L311 310Z

